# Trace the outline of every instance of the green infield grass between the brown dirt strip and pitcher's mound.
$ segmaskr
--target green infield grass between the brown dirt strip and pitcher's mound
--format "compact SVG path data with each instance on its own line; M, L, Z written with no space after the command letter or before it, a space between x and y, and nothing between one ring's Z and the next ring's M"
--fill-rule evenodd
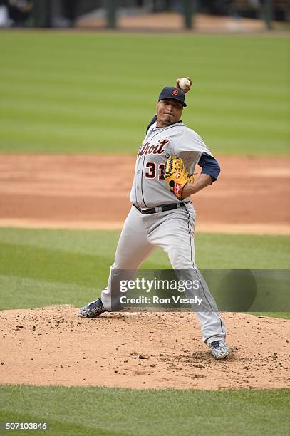
M68 303L78 307L91 301L107 284L118 235L114 231L0 229L0 309ZM200 269L290 266L290 237L198 234L195 248ZM157 249L141 268L171 266Z

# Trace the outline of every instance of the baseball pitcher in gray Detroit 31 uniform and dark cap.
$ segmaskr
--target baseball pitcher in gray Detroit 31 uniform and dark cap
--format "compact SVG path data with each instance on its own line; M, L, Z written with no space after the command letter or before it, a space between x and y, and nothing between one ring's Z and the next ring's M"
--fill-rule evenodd
M162 89L157 115L138 151L130 192L132 207L120 234L108 286L99 299L81 308L78 316L95 318L105 311L118 310L120 294L114 286L118 271L136 271L160 246L175 271L186 271L199 281L204 302L201 310L195 309L195 315L202 327L202 339L214 358L222 359L229 355L226 328L195 264L195 209L190 198L217 180L220 168L202 138L180 120L185 107L185 93L178 82L175 87ZM202 167L202 173L195 182L190 175L196 164Z

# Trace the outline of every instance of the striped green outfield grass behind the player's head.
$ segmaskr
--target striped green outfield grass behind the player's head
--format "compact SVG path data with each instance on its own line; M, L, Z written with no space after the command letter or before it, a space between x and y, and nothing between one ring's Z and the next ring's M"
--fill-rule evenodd
M164 85L214 154L289 153L289 38L1 31L0 152L138 149Z

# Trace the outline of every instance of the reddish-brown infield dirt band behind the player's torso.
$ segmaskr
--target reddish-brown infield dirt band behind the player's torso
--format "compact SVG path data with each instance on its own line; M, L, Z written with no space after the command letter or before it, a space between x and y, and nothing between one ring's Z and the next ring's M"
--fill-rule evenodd
M218 160L218 182L192 197L197 232L290 234L290 157ZM0 226L120 229L134 167L130 155L1 155Z

